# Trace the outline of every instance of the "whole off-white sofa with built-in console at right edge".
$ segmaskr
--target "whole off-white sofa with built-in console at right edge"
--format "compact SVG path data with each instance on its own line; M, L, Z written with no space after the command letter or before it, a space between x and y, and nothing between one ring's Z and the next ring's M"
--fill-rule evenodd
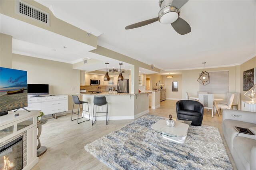
M238 133L236 127L256 134L256 112L223 110L222 130L238 170L256 170L256 136Z

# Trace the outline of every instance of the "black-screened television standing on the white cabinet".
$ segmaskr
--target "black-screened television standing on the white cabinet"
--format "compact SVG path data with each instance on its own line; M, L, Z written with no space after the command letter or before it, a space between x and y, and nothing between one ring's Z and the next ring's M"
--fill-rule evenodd
M28 84L28 95L48 95L48 84Z

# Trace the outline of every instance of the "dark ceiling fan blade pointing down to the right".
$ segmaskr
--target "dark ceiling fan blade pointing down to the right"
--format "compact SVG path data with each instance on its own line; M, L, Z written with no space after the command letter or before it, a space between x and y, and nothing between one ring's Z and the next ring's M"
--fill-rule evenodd
M188 34L189 32L191 32L190 25L180 17L171 25L174 28L174 30L178 32L180 35Z

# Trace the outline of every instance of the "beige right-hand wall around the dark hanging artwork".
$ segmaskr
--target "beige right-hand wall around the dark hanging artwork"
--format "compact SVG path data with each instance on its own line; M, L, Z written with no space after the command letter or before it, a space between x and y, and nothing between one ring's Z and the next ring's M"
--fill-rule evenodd
M246 100L249 101L250 99L248 97L246 97L244 95L244 93L246 93L246 91L243 91L243 73L246 70L252 69L256 67L256 57L246 61L245 63L240 65L240 96L241 96L241 100ZM254 73L256 74L256 73Z

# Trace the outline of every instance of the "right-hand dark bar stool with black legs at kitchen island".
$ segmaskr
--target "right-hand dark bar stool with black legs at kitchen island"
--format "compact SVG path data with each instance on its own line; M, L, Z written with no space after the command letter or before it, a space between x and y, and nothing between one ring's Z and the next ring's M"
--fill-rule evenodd
M94 96L93 99L93 112L92 112L92 125L96 122L97 113L106 113L106 124L108 125L108 102L105 96ZM106 106L106 112L97 112L97 106ZM94 116L94 106L95 106L95 116ZM104 115L103 115L104 116ZM95 121L93 122L93 118L95 117Z

